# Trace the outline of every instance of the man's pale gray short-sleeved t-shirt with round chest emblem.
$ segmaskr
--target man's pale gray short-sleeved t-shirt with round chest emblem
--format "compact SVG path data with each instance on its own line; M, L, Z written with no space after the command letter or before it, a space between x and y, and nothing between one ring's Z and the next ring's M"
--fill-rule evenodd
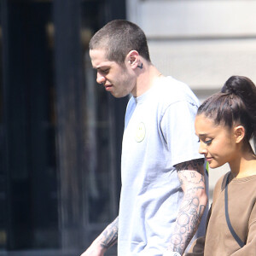
M119 256L165 251L183 199L174 165L203 158L194 120L198 100L186 84L160 78L131 97L125 113Z

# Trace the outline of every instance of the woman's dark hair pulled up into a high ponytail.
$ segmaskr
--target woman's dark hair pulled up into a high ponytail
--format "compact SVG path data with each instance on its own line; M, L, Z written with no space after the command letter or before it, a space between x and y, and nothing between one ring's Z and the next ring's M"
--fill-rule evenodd
M220 92L201 104L197 114L201 113L213 119L216 125L223 124L230 128L235 124L244 126L247 140L256 137L255 84L246 77L230 77Z

